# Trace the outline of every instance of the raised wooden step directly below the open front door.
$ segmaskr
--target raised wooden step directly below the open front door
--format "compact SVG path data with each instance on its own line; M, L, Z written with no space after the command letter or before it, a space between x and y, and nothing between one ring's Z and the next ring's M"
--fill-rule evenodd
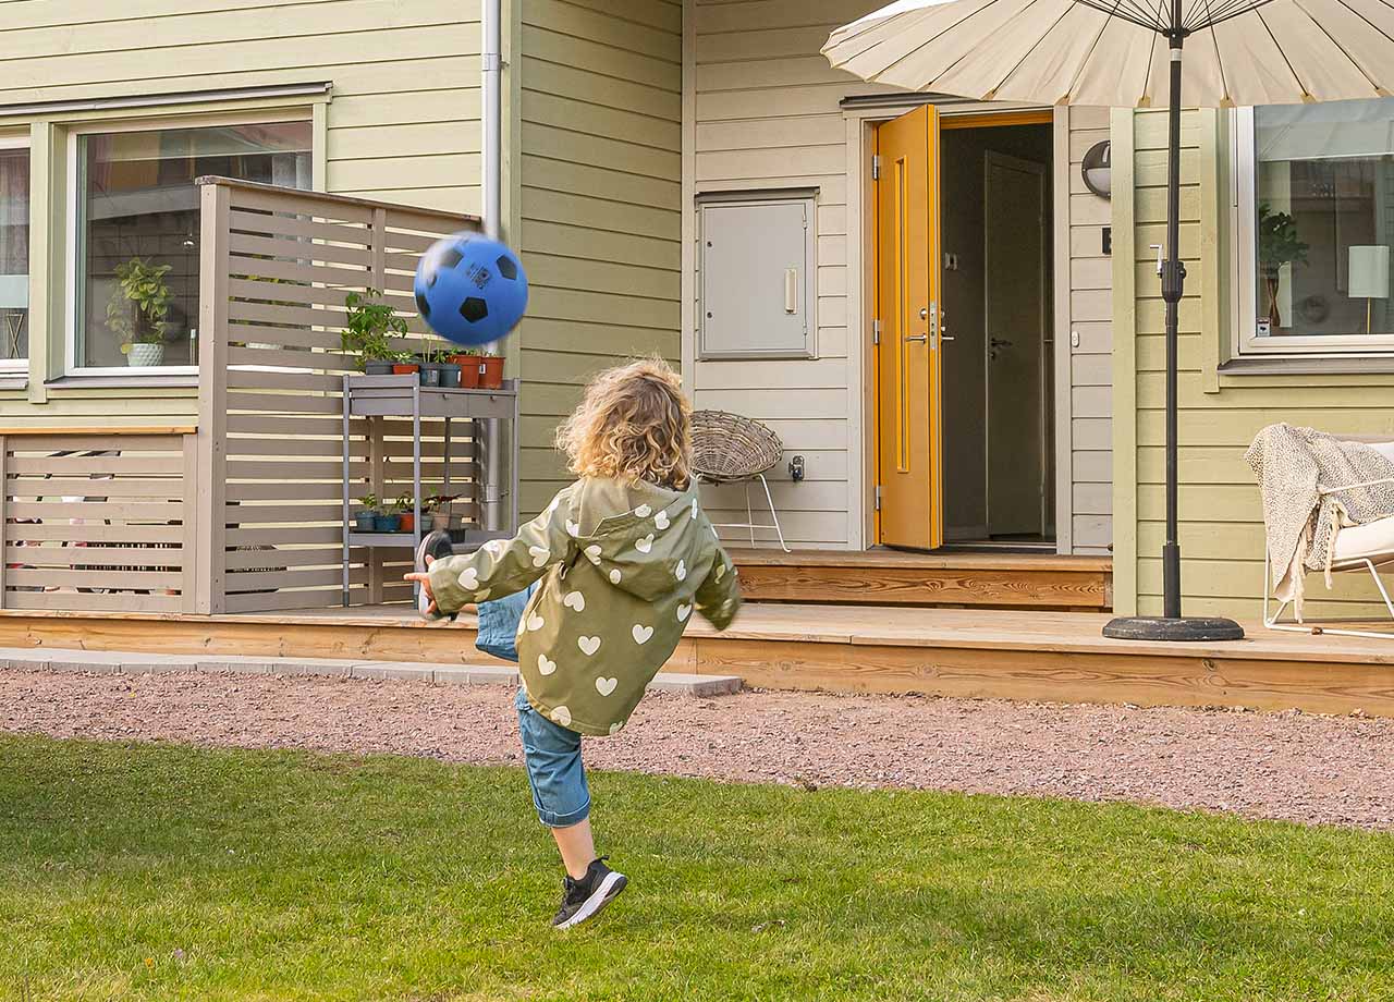
M1054 553L733 549L756 602L1103 612L1112 560Z

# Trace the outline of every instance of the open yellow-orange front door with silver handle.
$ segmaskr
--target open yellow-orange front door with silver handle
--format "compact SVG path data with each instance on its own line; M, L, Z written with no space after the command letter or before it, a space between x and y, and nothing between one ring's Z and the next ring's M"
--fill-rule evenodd
M877 127L875 318L880 542L944 544L940 419L938 113Z

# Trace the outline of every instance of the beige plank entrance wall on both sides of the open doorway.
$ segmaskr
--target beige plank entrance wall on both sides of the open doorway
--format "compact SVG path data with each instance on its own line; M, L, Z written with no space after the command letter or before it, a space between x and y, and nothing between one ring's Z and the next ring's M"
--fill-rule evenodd
M864 367L857 357L867 336L864 329L849 327L861 280L856 263L861 251L849 245L849 178L857 185L850 192L856 206L861 171L860 164L848 162L849 124L839 102L892 91L832 70L818 50L831 31L880 6L875 0L687 0L690 194L818 190L817 357L696 361L693 325L684 325L694 404L765 421L783 439L786 454L806 458L807 479L802 484L789 479L785 463L769 471L785 535L797 546L841 549L870 542L863 504L870 493L863 477L870 432L863 422ZM1087 148L1085 139L1104 128L1101 123L1098 114L1080 114L1080 135L1078 141L1072 137L1071 151ZM1083 213L1078 222L1079 262L1072 273L1094 283L1082 286L1080 293L1096 295L1079 297L1079 314L1072 314L1071 322L1094 325L1082 333L1089 334L1086 344L1097 355L1108 351L1107 332L1101 321L1089 318L1101 304L1107 308L1107 284L1098 284L1107 280L1100 277L1107 268L1085 263L1083 230L1093 226L1097 238L1097 217L1107 215L1107 203L1100 210L1085 198L1072 194L1069 199L1071 212L1078 206ZM693 212L690 205L684 210ZM694 231L691 217L689 227ZM1098 489L1108 475L1107 383L1083 382L1097 380L1100 368L1097 360L1080 364L1082 382L1072 401L1083 408L1079 421L1087 422L1075 426L1071 421L1072 439L1083 453L1076 465L1086 478L1075 491L1085 504L1076 527L1082 552L1107 552L1110 542L1107 491ZM718 517L744 520L739 488L714 492L708 503ZM1098 507L1104 510L1096 511Z

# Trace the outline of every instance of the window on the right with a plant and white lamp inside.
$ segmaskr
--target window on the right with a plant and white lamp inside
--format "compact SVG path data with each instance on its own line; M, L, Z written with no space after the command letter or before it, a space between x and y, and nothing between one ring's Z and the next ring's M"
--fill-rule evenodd
M1394 99L1236 113L1238 341L1394 351Z

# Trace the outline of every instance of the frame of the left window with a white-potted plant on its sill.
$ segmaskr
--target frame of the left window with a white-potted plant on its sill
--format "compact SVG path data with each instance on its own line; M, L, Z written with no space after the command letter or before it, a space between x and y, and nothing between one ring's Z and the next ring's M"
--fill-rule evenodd
M215 114L197 116L158 116L149 118L118 118L118 120L86 120L67 127L64 144L67 174L64 196L64 318L66 330L63 336L63 372L67 376L123 376L131 379L149 379L152 376L197 376L198 364L194 365L78 365L78 325L79 325L79 295L78 295L78 219L81 216L81 171L79 137L109 135L113 132L158 132L174 128L216 128L217 125L265 125L284 121L302 121L309 125L309 156L314 162L316 149L316 130L314 123L314 106L304 105L290 109L247 109L243 111L219 111Z

